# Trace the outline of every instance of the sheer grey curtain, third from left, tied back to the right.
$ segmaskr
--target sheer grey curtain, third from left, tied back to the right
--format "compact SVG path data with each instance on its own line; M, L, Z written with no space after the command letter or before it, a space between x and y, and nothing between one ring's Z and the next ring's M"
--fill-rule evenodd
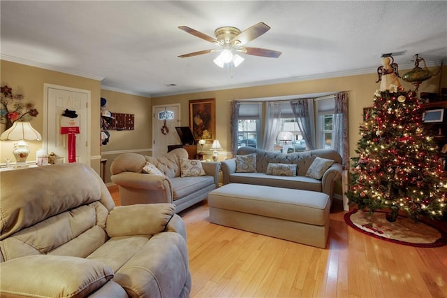
M314 100L296 99L291 101L291 107L307 149L315 150Z

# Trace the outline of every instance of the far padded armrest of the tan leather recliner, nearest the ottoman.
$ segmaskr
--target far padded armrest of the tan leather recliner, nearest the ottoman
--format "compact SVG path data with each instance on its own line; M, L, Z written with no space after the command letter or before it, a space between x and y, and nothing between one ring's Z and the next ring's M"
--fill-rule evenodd
M108 215L105 232L110 237L158 234L174 214L174 204L117 206Z

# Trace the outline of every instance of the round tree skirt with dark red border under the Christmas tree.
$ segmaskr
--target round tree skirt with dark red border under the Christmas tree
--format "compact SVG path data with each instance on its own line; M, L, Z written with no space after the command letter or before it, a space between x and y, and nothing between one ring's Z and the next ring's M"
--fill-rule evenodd
M354 209L344 215L344 221L353 229L378 239L416 246L434 248L447 244L447 232L427 222L417 222L398 216L395 222L386 220L385 212L368 212Z

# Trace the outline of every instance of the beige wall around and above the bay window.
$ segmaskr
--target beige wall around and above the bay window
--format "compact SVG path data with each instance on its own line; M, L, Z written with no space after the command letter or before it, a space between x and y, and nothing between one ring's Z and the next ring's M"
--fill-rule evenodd
M430 68L436 72L439 67ZM400 74L408 70L400 70ZM447 67L444 66L444 73ZM437 92L440 76L431 78L422 83L419 92ZM379 89L380 83L376 73L358 76L344 76L339 78L325 78L320 80L307 80L294 83L281 83L263 85L258 87L244 87L210 92L196 92L180 94L168 97L152 97L152 105L174 104L182 105L182 125L189 125L189 100L191 99L216 99L216 134L223 150L230 150L230 101L235 99L253 99L261 97L279 97L297 94L311 94L320 92L349 92L349 140L350 155L355 156L356 143L359 139L358 127L362 122L363 108L372 106L374 92ZM401 80L406 90L414 90L413 85ZM447 76L444 75L441 86L447 86Z

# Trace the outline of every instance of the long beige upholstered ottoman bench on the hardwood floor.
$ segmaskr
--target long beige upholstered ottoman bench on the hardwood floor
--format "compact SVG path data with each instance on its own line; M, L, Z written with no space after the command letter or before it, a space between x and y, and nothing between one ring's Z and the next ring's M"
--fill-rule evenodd
M208 194L210 221L325 248L330 199L323 192L230 183Z

